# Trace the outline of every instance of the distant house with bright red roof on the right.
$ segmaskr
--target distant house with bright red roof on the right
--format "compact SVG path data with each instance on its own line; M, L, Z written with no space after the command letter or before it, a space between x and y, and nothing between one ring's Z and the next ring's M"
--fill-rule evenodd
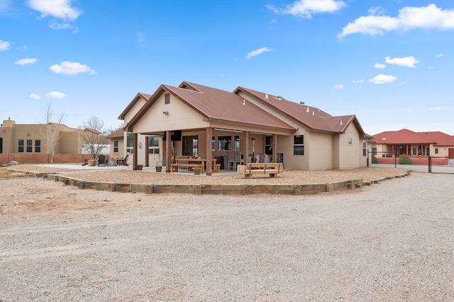
M371 152L377 158L393 155L454 158L454 136L443 132L413 132L409 129L375 134Z

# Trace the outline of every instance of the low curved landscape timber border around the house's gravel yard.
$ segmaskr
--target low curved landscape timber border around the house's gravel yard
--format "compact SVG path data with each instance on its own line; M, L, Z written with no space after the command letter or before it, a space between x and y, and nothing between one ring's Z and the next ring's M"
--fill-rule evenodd
M23 172L23 171L21 171ZM155 193L184 193L184 194L230 194L230 195L247 195L247 194L291 194L291 195L309 195L317 193L332 193L343 190L360 189L365 185L378 184L384 180L394 178L403 178L409 176L411 171L403 174L378 178L376 180L363 181L345 180L341 182L317 183L306 185L169 185L169 184L133 184L133 183L115 183L115 182L91 182L77 178L69 178L64 175L53 173L35 173L35 178L46 178L56 182L63 182L65 185L73 185L79 189L106 190L110 192L143 192L146 194Z

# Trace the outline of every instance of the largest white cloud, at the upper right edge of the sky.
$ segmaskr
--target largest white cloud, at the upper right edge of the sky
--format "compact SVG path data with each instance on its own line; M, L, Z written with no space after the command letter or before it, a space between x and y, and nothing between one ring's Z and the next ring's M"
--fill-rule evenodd
M390 16L361 16L348 23L339 37L353 33L383 35L391 30L413 30L416 28L440 30L454 29L454 10L438 8L435 4L422 7L404 7L396 18Z

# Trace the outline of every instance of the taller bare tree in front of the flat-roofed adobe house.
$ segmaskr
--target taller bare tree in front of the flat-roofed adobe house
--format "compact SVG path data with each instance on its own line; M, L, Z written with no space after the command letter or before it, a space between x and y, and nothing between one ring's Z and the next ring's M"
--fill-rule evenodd
M67 114L65 112L55 113L55 110L52 108L52 101L50 101L48 106L41 112L41 115L42 121L40 122L40 132L44 137L44 144L50 146L50 149L52 150L50 163L53 163L55 144L57 144L57 141L62 137L60 129L65 127L62 123L66 120Z

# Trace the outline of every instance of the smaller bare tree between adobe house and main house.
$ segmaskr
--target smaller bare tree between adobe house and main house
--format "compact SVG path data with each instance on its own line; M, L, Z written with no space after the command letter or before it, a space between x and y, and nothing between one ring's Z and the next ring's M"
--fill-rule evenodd
M109 144L106 135L109 130L104 129L104 122L98 117L92 116L82 124L84 131L82 132L82 143L84 151L92 154L93 159L96 159L101 151Z

